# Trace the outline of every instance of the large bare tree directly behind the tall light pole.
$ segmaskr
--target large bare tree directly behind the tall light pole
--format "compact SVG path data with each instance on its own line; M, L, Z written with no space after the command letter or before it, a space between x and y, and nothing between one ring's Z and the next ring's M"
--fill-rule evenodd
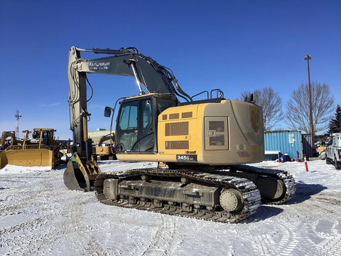
M331 119L330 113L334 106L334 97L332 97L329 85L325 85L325 83L321 85L320 82L311 82L310 85L313 127L315 132L320 132L328 128L327 122ZM308 84L302 83L297 90L293 90L286 109L286 117L294 129L311 133Z

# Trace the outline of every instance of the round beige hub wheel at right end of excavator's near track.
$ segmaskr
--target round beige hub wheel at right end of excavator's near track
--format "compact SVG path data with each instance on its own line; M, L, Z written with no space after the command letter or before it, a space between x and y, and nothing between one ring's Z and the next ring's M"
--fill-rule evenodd
M241 210L244 206L242 194L234 188L224 189L220 193L220 206L228 212Z

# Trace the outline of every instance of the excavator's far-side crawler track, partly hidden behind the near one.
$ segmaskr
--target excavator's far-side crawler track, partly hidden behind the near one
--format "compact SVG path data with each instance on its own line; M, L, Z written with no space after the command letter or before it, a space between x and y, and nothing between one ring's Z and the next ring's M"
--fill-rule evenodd
M296 192L296 181L293 176L291 176L291 174L288 174L287 171L277 169L264 169L242 164L229 166L228 169L229 171L222 170L216 171L216 173L229 176L244 177L253 181L256 184L257 188L259 188L259 191L261 193L261 201L264 204L282 204L292 198ZM271 180L281 186L280 191L276 191L276 193L278 193L278 196L275 196L275 198L264 195L266 194L266 192L264 192L264 189L266 187L269 187L269 181Z

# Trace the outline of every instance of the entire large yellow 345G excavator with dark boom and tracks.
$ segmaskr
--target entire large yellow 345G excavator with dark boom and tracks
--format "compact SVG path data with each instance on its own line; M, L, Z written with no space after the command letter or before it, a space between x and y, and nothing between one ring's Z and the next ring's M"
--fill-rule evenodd
M85 60L82 51L106 56ZM136 80L139 95L119 104L116 156L156 161L157 168L107 174L99 169L87 137L86 73ZM264 160L262 110L251 98L227 100L214 89L197 94L207 95L205 100L193 100L197 95L186 94L169 68L136 48L72 47L67 77L75 142L64 173L67 188L94 189L100 202L113 206L222 223L247 218L261 201L283 203L295 193L296 183L286 171L245 165ZM115 107L106 107L104 116L113 118Z

